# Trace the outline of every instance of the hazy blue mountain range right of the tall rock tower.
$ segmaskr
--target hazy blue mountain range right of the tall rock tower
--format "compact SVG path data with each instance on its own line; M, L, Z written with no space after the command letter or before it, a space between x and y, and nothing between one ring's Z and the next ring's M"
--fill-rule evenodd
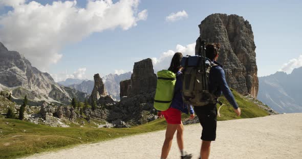
M302 67L259 77L257 98L278 113L302 112Z

